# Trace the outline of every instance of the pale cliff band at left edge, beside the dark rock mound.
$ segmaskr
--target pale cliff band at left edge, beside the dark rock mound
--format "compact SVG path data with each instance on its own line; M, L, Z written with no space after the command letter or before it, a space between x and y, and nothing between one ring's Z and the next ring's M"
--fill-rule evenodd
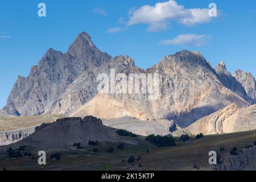
M18 142L19 140L22 140L34 133L34 131L35 127L28 127L26 129L16 131L0 132L0 146Z

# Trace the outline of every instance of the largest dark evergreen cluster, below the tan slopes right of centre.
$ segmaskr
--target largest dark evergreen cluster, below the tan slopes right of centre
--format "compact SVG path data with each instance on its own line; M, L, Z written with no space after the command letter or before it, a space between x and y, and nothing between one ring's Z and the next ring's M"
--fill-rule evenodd
M172 135L148 135L146 137L146 141L158 147L176 146L174 138L172 138Z

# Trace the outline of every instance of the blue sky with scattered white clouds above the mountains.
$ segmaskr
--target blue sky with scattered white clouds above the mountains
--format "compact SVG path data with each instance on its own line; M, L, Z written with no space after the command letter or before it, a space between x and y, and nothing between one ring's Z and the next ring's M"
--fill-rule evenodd
M46 17L38 16L40 2L46 4ZM200 14L211 2L217 18ZM196 21L190 17L193 9L199 10ZM214 67L224 60L230 72L242 69L256 76L255 0L5 0L0 2L0 107L18 75L28 76L50 47L67 51L82 31L102 51L129 55L138 67L189 49L202 52Z

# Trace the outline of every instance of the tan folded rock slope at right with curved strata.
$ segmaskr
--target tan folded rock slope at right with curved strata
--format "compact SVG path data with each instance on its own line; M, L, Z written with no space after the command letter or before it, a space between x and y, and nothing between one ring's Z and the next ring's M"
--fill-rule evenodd
M223 134L256 129L256 105L240 108L236 103L199 119L187 127L189 133Z

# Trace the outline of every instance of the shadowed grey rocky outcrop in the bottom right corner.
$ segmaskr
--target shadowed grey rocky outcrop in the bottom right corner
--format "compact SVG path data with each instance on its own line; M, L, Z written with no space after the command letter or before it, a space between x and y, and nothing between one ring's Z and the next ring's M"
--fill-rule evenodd
M221 164L214 167L220 171L251 171L256 169L256 148L243 148L238 155L226 155Z

